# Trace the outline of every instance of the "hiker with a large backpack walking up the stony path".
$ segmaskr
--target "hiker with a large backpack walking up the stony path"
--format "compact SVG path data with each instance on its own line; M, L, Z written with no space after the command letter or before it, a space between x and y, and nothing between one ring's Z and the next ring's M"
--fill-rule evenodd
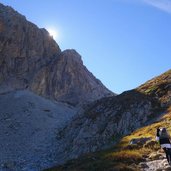
M157 128L156 140L159 141L161 148L166 153L167 161L171 165L171 137L166 128Z

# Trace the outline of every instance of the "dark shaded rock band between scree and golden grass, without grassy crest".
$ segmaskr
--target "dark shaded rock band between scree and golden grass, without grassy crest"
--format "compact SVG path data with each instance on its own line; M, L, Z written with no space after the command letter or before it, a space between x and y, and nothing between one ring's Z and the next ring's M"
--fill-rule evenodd
M136 91L91 104L58 133L61 149L68 152L66 160L114 145L122 136L149 122L157 108L157 101Z

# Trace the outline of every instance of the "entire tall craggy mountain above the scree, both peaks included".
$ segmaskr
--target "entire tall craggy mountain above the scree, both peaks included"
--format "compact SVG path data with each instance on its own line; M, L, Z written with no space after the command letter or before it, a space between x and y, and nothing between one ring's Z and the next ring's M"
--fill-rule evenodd
M61 52L45 29L0 4L0 92L28 88L77 105L113 95L74 50Z

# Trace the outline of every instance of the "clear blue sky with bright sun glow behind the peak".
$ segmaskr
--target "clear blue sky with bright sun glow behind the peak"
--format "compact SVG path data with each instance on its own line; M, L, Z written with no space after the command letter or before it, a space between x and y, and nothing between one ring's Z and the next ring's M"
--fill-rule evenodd
M171 0L1 0L40 28L115 93L171 69Z

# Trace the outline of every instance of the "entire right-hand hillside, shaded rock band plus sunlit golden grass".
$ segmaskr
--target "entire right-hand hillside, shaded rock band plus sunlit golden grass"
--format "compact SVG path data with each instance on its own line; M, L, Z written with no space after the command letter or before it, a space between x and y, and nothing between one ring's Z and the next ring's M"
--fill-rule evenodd
M169 128L170 106L171 70L134 90L98 100L59 134L70 144L68 149L67 143L64 146L68 158L88 154L54 170L138 170L143 167L140 162L161 159L154 136L158 126ZM136 138L140 142L130 145Z

